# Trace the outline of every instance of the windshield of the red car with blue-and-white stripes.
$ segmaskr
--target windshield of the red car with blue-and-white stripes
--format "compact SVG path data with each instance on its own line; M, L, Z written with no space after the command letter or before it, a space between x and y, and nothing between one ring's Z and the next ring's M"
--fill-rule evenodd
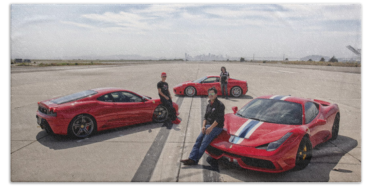
M258 98L250 101L235 115L269 123L302 125L302 110L299 103Z

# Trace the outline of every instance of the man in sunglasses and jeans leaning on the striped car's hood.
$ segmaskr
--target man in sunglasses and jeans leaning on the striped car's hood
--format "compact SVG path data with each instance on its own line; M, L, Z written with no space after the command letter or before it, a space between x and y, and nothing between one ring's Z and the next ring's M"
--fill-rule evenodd
M202 132L196 138L189 158L180 160L185 166L197 165L207 146L216 138L223 128L225 105L217 99L215 87L208 89L208 105L204 114Z

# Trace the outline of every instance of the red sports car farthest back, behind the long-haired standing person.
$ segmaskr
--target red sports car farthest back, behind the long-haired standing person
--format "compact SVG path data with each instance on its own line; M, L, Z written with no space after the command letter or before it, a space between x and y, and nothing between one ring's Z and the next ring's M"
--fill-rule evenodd
M200 79L183 82L174 87L174 93L178 95L195 96L207 95L207 90L215 86L218 95L222 95L220 86L220 76L211 75L204 76ZM229 78L228 80L228 93L233 97L239 97L246 94L248 91L248 84L246 80L238 80Z

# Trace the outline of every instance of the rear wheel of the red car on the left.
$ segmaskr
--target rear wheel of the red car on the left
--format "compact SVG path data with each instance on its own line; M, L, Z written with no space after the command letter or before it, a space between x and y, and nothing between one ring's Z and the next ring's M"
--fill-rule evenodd
M68 134L74 138L86 138L96 131L96 121L94 117L87 114L75 116L69 126Z

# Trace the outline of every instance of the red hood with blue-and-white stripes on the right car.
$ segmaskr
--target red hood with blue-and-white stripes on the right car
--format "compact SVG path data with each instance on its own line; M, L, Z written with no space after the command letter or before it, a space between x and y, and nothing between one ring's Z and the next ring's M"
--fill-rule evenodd
M259 146L274 142L297 125L274 124L226 114L224 128L231 135L229 142L244 146Z

